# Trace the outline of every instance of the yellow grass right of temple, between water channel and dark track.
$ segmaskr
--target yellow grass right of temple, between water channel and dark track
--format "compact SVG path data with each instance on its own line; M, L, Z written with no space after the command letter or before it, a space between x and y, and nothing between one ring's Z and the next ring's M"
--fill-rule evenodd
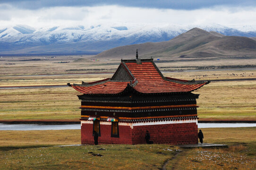
M212 82L194 93L200 119L256 120L256 81Z

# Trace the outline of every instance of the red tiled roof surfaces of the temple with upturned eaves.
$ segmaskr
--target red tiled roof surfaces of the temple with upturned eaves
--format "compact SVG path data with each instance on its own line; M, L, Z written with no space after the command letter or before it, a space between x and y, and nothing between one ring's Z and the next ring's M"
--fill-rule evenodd
M191 92L209 82L190 82L171 77L163 77L152 60L142 61L137 64L135 61L122 62L121 67L125 67L127 72L130 71L134 81L111 81L99 84L92 82L86 85L71 85L74 89L85 94L116 94L121 93L127 84L130 84L137 92L140 93L174 93L174 92ZM128 73L128 74L130 74Z

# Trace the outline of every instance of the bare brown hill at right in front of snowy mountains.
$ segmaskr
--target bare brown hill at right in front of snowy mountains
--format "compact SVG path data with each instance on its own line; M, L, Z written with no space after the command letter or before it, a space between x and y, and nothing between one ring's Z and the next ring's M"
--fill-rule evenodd
M170 41L116 47L95 57L129 59L134 57L136 49L140 58L209 58L255 54L256 41L247 37L224 36L193 28Z

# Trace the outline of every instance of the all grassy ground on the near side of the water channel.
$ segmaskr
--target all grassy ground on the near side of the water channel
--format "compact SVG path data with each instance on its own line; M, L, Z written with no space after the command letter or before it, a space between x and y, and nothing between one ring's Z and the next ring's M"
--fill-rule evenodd
M79 144L80 130L0 131L1 170L255 170L256 127L203 128L205 142L220 149L166 144ZM93 136L92 136L93 137ZM19 140L17 140L19 139Z

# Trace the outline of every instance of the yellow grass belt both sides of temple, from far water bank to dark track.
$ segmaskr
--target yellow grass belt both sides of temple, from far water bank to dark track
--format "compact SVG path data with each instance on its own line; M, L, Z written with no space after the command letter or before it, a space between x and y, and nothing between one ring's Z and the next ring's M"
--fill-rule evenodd
M65 80L63 80L64 82ZM72 82L68 79L66 82ZM40 84L40 81L38 81ZM75 82L75 83L78 83ZM81 83L81 81L80 81ZM211 82L193 93L202 119L256 120L256 81ZM235 92L235 93L234 93ZM0 119L79 119L80 104L71 87L0 90Z

